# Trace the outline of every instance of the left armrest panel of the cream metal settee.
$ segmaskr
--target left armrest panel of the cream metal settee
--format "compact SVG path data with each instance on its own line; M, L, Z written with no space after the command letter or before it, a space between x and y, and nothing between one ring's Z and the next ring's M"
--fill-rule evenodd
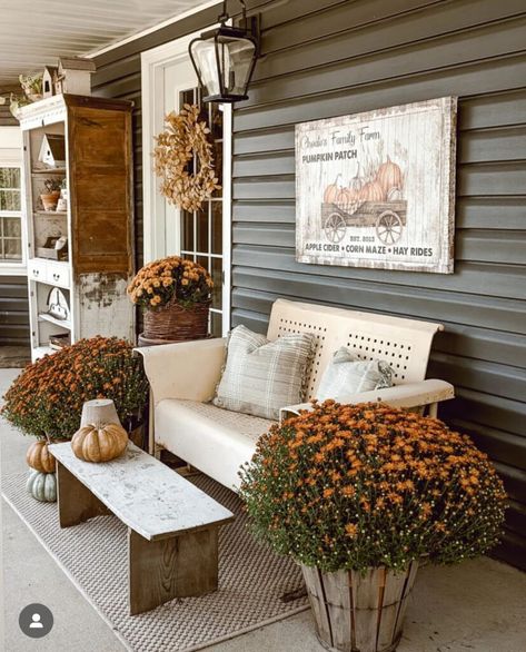
M226 342L196 339L135 348L145 362L153 405L163 398L210 401L221 377Z

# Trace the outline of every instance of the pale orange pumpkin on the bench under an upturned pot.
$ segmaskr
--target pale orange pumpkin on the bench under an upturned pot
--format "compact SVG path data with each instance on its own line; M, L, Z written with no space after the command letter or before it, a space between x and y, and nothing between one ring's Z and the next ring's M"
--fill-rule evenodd
M128 433L115 423L88 424L78 429L71 448L79 460L85 462L109 462L122 455L128 445Z

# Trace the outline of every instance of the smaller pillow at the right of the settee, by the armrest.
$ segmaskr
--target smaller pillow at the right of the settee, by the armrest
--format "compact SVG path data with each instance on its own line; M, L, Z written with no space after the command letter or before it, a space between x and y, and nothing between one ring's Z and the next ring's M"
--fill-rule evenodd
M317 398L348 403L354 394L393 387L393 369L383 360L360 360L348 348L339 348L319 382Z

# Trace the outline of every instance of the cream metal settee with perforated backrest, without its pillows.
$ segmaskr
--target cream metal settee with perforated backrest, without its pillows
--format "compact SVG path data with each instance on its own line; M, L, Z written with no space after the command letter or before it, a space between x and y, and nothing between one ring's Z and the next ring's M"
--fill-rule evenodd
M314 333L317 349L308 369L308 396L316 396L320 376L341 346L361 359L384 359L394 369L395 386L363 392L351 403L384 401L396 407L427 409L454 397L449 383L425 381L435 333L440 324L403 319L278 299L267 337ZM272 422L215 407L210 401L220 379L226 339L205 339L142 347L151 386L150 452L166 448L225 486L239 486L238 471L248 462L258 437ZM307 406L307 405L306 405ZM284 406L296 412L299 406Z

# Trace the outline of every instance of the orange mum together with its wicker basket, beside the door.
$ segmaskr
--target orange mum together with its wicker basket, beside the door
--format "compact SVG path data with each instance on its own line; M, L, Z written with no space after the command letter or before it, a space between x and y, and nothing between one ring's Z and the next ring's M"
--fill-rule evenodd
M206 337L212 287L212 279L201 265L179 256L142 267L128 286L131 302L145 308L140 343Z

